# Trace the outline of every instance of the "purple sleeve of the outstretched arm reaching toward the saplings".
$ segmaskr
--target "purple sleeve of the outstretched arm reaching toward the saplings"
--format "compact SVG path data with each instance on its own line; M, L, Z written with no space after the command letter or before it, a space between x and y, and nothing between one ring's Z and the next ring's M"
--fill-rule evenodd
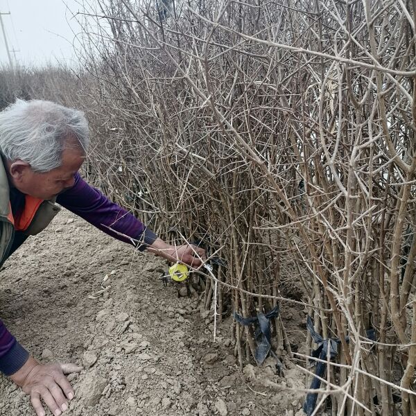
M141 243L139 250L144 250L157 239L146 225L111 202L98 189L89 186L78 173L73 187L61 193L56 202L115 239L135 246Z

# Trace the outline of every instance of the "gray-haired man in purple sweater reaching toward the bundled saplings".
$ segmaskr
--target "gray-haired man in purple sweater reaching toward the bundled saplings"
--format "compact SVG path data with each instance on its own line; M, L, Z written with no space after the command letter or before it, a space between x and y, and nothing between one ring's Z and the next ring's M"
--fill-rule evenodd
M17 100L0 112L0 265L28 236L58 213L58 202L116 239L170 261L201 265L204 250L164 243L135 216L90 187L78 171L89 144L83 112L49 101ZM53 415L68 408L73 389L64 372L73 365L42 365L0 321L0 370Z

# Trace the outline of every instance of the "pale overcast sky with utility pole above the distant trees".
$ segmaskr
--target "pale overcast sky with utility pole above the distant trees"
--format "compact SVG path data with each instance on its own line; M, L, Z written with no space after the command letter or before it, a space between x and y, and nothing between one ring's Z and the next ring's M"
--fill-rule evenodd
M94 1L94 0L93 0ZM77 0L0 0L8 49L13 64L42 66L57 60L72 65L76 61L73 44L80 26L73 13L82 10ZM8 64L8 54L0 28L0 65Z

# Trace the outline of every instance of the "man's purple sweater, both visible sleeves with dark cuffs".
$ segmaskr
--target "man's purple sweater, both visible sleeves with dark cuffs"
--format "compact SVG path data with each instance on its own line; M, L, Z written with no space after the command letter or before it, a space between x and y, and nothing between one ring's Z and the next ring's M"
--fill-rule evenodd
M115 239L135 245L144 250L157 236L135 216L114 204L93 187L90 187L78 173L71 189L61 193L56 202L84 218ZM13 203L13 202L12 202ZM15 211L12 207L12 211ZM0 320L0 371L13 374L26 363L28 352L24 349Z

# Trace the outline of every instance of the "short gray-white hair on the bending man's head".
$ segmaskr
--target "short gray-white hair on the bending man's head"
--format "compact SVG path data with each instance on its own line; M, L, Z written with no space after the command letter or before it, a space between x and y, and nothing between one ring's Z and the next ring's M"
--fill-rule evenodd
M88 123L80 110L51 101L17 99L0 112L0 152L21 159L33 171L49 172L62 164L62 151L76 144L87 153Z

